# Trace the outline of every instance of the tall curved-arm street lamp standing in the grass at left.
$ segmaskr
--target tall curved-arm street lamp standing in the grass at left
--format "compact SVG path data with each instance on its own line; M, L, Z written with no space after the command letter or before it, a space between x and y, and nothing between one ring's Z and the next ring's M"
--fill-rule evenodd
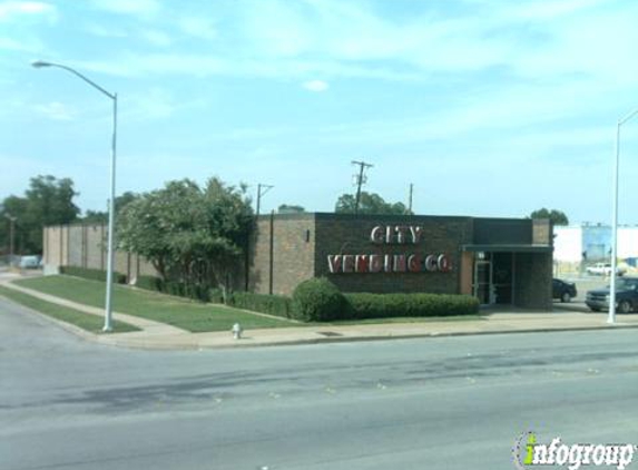
M114 231L115 231L115 163L116 163L116 144L117 144L117 94L111 94L102 87L89 80L82 74L73 70L70 67L60 63L45 62L37 60L31 63L36 68L42 67L57 67L67 70L75 76L79 77L91 87L102 92L112 100L112 140L111 140L111 159L110 159L110 198L108 205L108 254L107 254L107 286L106 286L106 307L105 307L105 325L102 331L111 331L112 317L112 265L114 265Z

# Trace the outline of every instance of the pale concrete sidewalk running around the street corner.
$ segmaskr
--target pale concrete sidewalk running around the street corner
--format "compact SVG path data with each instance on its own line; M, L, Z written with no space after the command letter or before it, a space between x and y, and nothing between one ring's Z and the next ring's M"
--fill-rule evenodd
M16 288L48 302L66 305L91 315L102 315L91 307L48 294L17 286L4 280L2 285ZM234 340L230 331L189 333L177 327L134 315L115 313L114 317L134 324L143 331L130 333L92 334L77 327L67 330L102 344L143 349L208 349L246 347L326 342L374 341L390 339L455 336L470 334L552 332L571 330L608 330L638 327L638 314L617 315L617 323L607 324L606 313L588 312L579 304L561 304L553 312L487 311L480 320L432 320L419 323L383 323L369 325L325 325L245 331Z

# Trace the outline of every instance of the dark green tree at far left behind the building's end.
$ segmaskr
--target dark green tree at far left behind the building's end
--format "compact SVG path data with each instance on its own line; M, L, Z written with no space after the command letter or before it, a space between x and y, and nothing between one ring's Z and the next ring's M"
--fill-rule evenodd
M9 196L0 209L0 246L9 241L8 216L16 217L16 253L41 254L42 227L68 224L77 219L80 209L73 204L78 193L70 178L56 178L51 175L30 179L23 197Z

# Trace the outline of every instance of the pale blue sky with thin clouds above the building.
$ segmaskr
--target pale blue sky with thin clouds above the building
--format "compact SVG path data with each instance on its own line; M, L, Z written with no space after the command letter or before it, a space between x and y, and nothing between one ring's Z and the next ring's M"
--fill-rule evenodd
M218 176L331 212L365 190L425 215L610 223L617 121L638 108L627 0L0 0L0 198L70 177L117 193ZM638 117L619 219L638 223Z

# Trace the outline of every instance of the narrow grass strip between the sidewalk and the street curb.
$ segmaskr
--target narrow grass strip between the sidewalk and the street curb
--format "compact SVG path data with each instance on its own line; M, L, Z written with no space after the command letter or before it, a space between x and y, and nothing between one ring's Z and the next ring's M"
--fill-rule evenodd
M52 316L53 319L79 326L82 330L89 331L91 333L102 333L104 319L100 316L91 315L90 313L84 313L62 305L52 304L50 302L32 297L29 294L13 291L8 287L0 286L0 295L29 309L33 309L40 313L43 313L45 315ZM112 333L125 333L129 331L139 331L139 329L124 322L114 322L112 324Z

